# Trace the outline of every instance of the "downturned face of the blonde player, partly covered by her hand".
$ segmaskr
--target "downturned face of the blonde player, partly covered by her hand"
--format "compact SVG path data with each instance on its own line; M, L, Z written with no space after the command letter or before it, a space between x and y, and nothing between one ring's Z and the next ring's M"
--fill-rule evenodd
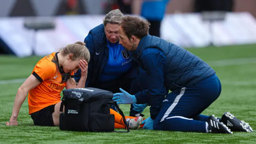
M65 73L71 73L73 71L76 73L79 69L78 64L79 60L68 59L63 63L62 68Z

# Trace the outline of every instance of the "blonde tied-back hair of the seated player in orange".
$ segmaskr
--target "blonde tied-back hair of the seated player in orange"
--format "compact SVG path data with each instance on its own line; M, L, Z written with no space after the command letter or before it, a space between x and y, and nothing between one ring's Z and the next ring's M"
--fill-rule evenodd
M71 60L86 60L87 63L90 61L90 52L84 42L75 42L74 44L66 45L59 52L62 56L73 54Z

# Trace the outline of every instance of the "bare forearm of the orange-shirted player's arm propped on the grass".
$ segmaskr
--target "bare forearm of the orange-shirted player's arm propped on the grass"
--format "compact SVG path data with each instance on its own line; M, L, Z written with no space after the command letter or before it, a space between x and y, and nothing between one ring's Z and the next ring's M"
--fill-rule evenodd
M26 99L27 93L28 92L26 90L24 90L22 88L18 88L17 94L15 96L15 100L14 100L11 118L14 118L14 119L18 118L20 108Z

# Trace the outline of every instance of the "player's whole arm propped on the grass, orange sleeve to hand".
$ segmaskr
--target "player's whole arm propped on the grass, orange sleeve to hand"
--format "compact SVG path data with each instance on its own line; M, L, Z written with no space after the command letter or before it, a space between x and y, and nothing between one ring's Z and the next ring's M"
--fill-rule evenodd
M55 68L55 67L54 67ZM36 64L34 72L25 80L25 82L18 88L15 96L14 105L12 109L12 116L10 122L6 122L6 125L17 125L17 118L20 112L20 108L24 103L26 96L30 90L38 86L43 80L50 78L53 75L54 68L48 66L48 64L42 62ZM56 69L56 68L55 68Z

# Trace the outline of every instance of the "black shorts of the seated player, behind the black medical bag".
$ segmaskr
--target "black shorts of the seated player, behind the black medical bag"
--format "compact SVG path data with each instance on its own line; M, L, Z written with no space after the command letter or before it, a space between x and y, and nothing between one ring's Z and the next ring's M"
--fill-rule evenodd
M54 126L52 113L54 112L55 104L47 106L42 110L31 114L35 126Z

